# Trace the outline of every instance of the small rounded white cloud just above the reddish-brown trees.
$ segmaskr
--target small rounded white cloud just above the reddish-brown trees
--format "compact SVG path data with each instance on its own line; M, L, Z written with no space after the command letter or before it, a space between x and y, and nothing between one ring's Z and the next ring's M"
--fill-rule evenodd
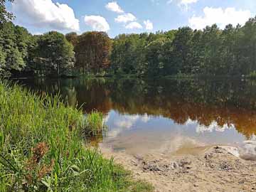
M95 31L109 31L110 25L102 16L85 16L85 24Z

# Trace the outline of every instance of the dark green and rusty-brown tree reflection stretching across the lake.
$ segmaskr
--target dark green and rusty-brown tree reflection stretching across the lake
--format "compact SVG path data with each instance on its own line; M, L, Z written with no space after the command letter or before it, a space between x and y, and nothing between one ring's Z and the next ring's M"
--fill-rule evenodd
M111 109L127 114L151 114L185 124L188 119L209 126L234 124L246 137L256 134L255 82L235 80L113 80L73 79L33 82L32 89L68 97L85 112Z

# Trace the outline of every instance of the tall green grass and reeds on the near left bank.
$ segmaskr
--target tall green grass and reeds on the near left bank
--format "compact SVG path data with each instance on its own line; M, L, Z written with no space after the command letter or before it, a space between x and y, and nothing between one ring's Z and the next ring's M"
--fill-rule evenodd
M38 97L1 81L0 191L152 191L87 149L81 132L99 132L102 119L99 112L85 119L58 96Z

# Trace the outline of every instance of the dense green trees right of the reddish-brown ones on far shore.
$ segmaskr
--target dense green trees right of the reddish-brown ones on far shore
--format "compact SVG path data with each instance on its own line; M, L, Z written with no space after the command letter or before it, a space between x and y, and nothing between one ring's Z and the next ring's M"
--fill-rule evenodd
M256 70L256 17L224 30L119 35L111 64L114 73L136 75L248 75Z

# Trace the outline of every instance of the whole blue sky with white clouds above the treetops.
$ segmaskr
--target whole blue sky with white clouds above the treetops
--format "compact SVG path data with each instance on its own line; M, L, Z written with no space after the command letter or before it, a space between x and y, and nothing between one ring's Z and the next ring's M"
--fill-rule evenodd
M33 34L94 30L114 37L179 26L244 24L256 15L256 0L15 0L8 9L16 15L14 23Z

